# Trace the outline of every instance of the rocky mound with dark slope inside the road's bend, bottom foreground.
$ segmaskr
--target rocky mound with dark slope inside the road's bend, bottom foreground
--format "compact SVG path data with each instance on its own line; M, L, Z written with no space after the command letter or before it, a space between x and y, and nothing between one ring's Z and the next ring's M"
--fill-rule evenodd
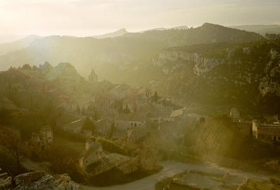
M123 184L146 177L161 169L153 156L146 156L145 159L141 156L128 156L123 147L109 140L103 141L105 142L115 148L106 151L101 142L87 140L87 152L83 157L82 167L91 184L97 186ZM107 149L108 145L105 145Z

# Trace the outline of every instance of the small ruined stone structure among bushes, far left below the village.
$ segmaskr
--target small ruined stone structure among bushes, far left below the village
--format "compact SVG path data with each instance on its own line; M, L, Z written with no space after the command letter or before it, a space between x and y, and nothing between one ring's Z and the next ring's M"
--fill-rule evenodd
M38 143L40 149L45 149L53 141L53 132L50 126L43 126L38 133L32 134L32 140Z

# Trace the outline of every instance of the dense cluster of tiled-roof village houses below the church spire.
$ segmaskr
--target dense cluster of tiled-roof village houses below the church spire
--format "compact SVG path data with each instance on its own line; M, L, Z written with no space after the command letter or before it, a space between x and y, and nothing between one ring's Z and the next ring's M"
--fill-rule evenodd
M185 108L174 109L173 98L158 96L156 92L144 87L113 85L108 81L95 85L88 105L89 108L94 107L94 111L87 112L87 115L94 122L94 134L97 136L108 135L112 127L115 131L113 135L116 136L128 133L131 129L159 129L161 124L179 122L186 114ZM97 112L98 118L94 118L94 112ZM64 125L63 129L92 136L90 131L83 129L84 120L83 117L76 119Z

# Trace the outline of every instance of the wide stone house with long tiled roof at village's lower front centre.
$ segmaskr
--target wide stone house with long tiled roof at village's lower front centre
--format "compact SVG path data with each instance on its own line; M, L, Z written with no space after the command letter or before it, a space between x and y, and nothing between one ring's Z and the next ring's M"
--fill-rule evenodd
M115 118L116 129L127 130L134 127L143 128L146 126L147 114L139 112L131 112L128 114L120 114Z

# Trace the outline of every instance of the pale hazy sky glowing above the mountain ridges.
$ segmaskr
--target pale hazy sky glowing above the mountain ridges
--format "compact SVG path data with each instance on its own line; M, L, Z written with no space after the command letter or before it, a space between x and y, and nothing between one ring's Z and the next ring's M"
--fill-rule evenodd
M280 24L279 10L280 0L0 0L0 36L92 36L204 22Z

